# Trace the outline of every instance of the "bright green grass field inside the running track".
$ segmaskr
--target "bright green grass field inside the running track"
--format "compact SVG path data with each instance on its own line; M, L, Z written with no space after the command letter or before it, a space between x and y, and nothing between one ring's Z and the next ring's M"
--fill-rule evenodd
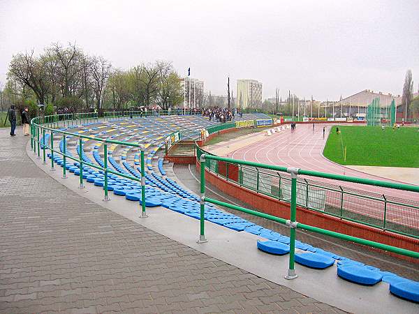
M393 130L380 126L336 126L326 142L323 155L341 165L419 167L419 128ZM346 147L346 161L344 160Z

